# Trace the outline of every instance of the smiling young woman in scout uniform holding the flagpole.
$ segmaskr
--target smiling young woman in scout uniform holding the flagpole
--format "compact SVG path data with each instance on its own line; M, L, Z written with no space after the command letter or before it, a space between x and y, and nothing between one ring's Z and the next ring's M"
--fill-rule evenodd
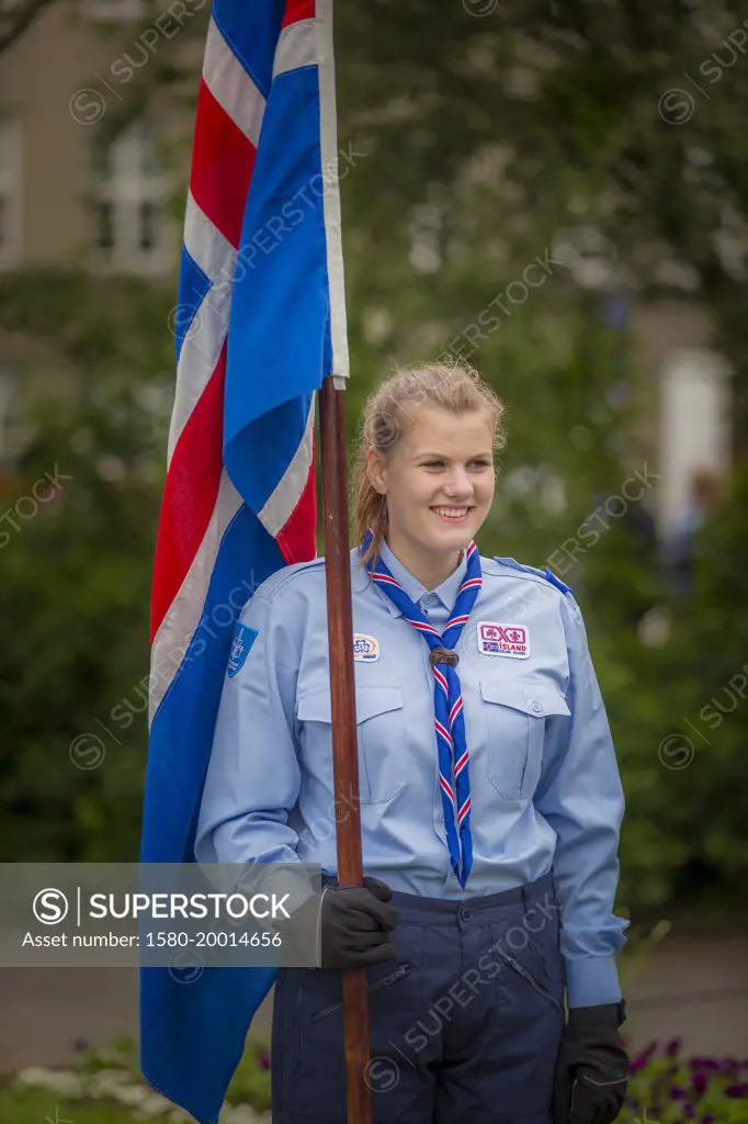
M274 574L241 617L252 647L226 679L197 858L319 863L329 885L322 967L277 977L273 1124L345 1124L340 977L361 966L377 1124L610 1124L623 1099L621 785L571 592L474 543L502 411L474 371L437 364L365 407L364 888L335 878L323 559Z

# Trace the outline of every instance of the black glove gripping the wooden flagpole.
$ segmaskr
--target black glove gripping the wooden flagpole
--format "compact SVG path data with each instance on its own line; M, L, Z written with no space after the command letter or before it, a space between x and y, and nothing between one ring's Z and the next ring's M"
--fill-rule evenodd
M392 890L378 878L363 886L328 886L322 892L321 967L365 968L395 960L390 933L400 921L387 905Z

